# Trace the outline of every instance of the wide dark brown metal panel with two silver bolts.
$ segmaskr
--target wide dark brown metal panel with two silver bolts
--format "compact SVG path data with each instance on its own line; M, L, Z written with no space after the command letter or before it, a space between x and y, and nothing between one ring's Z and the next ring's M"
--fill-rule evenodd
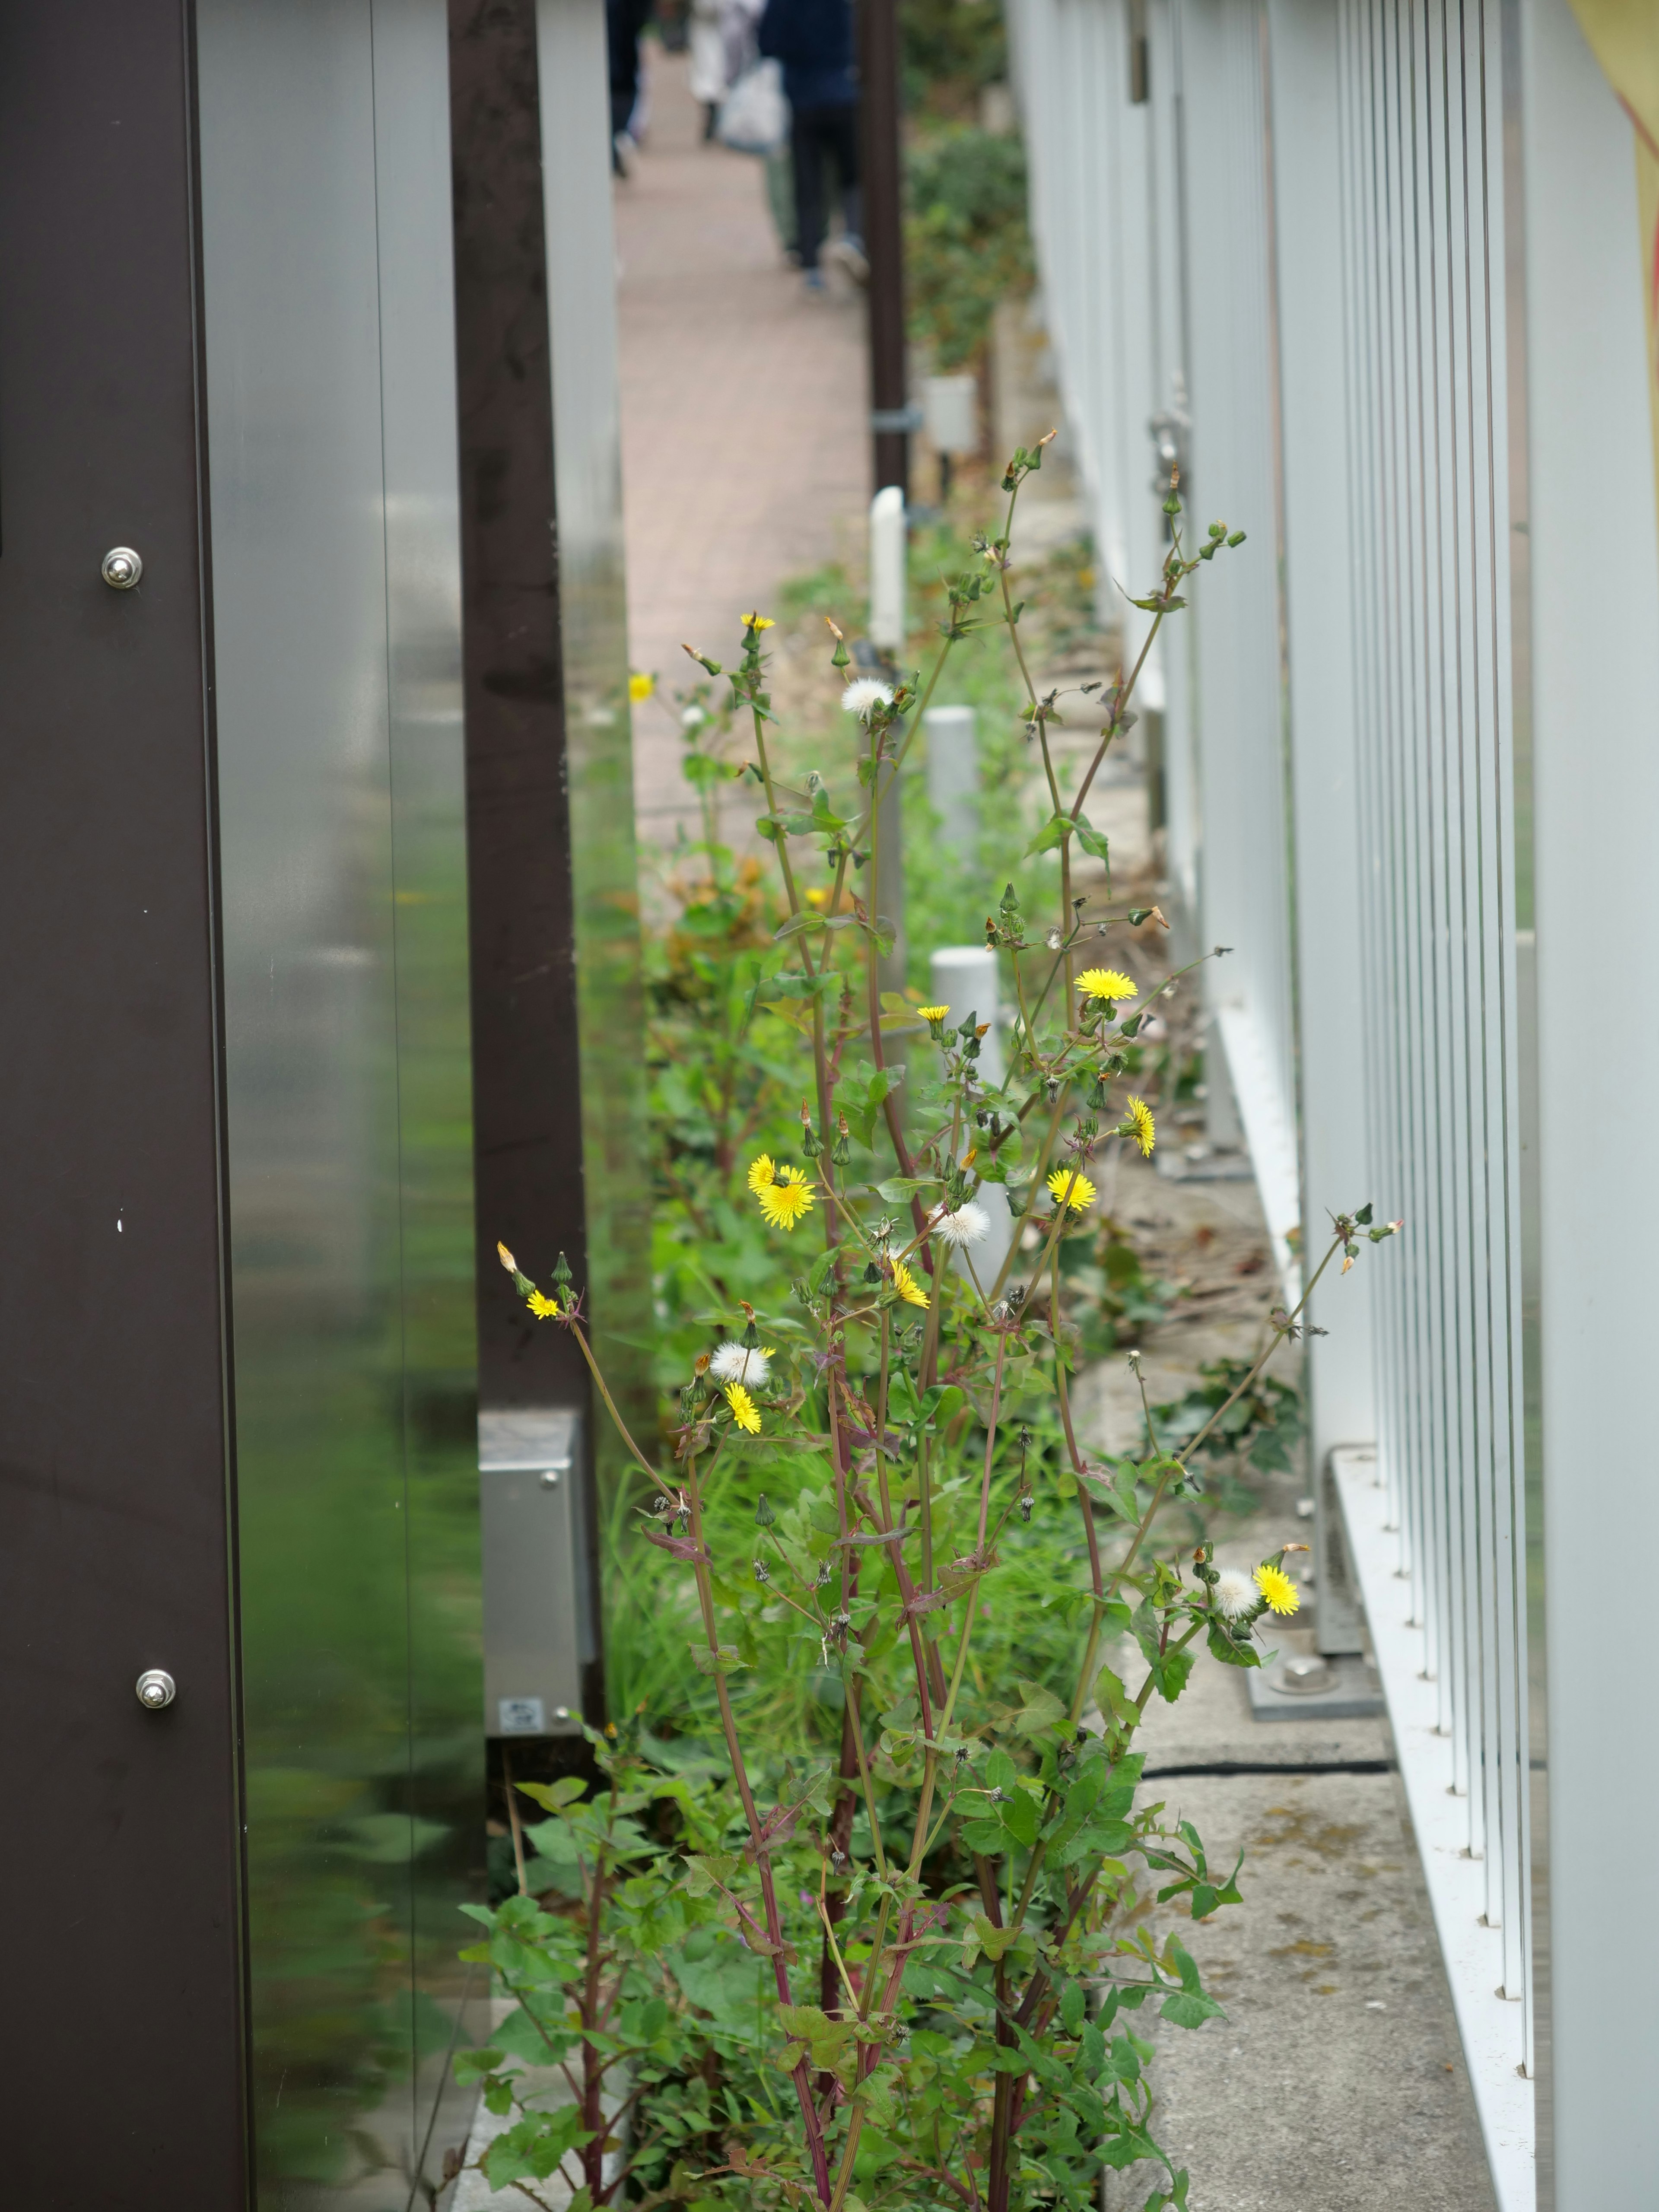
M246 2128L179 0L0 4L0 502L4 2197L219 2212ZM100 580L117 544L137 591Z

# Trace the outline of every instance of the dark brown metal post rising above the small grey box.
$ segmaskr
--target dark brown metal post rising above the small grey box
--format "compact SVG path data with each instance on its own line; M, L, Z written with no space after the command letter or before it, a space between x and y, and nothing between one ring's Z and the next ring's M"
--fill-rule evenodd
M495 1241L586 1283L535 0L449 0L478 1398L586 1405Z

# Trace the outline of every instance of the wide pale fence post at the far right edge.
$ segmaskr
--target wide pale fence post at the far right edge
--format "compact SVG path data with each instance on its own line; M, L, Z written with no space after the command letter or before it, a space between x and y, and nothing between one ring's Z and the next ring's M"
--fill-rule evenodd
M1531 708L1531 790L1522 781L1517 794L1531 803L1517 841L1533 869L1520 883L1520 925L1540 1015L1522 1124L1535 1199L1524 1214L1528 1334L1540 1349L1526 1405L1526 1533L1528 1597L1548 1597L1548 1641L1533 1637L1535 1712L1546 1721L1533 1732L1533 1774L1548 1781L1533 1829L1546 1902L1540 2011L1548 2006L1540 2179L1559 2212L1597 2212L1639 2203L1659 2172L1659 1927L1637 1909L1610 1933L1624 1838L1659 1816L1659 1772L1646 1756L1646 1606L1626 1597L1646 1586L1659 1544L1646 1449L1659 1221L1648 1139L1659 1033L1646 1013L1659 818L1659 540L1641 299L1652 272L1630 117L1577 22L1564 0L1524 0L1509 20L1506 122L1526 155L1511 199L1524 226L1520 520L1531 568L1531 684L1517 701ZM1568 1064L1568 1037L1586 1040L1582 1066L1579 1055Z

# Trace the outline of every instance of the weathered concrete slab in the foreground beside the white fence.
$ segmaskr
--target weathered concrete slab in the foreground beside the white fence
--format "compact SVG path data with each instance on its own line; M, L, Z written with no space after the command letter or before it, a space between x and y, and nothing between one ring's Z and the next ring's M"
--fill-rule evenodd
M1186 1776L1146 1794L1212 1860L1245 1849L1243 1907L1179 1924L1228 2017L1155 2031L1155 2132L1192 2174L1192 2212L1491 2212L1396 1778ZM1155 2179L1113 2174L1106 2212Z

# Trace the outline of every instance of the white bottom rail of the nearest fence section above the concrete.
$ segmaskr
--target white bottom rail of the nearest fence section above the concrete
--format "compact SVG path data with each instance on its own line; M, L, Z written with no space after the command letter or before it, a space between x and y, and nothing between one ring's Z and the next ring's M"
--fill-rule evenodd
M1398 1575L1400 1533L1389 1526L1389 1498L1378 1482L1376 1453L1334 1451L1332 1478L1389 1703L1400 1781L1411 1807L1493 2190L1500 2212L1535 2212L1533 2084L1520 2070L1522 2006L1498 1995L1504 1942L1498 1929L1484 1927L1480 1863L1462 1845L1464 1820L1451 1790L1451 1743L1436 1728L1436 1688L1425 1679L1425 1637L1407 1619L1407 1584Z

